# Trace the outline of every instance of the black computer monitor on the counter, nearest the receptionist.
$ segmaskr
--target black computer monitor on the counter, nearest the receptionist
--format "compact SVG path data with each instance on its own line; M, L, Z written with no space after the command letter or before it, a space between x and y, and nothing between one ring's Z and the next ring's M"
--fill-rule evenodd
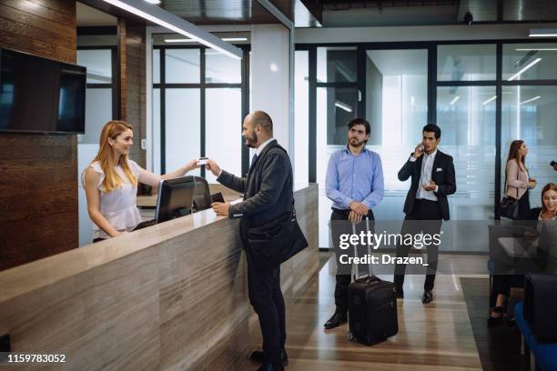
M157 224L191 214L196 182L194 176L161 180L157 196Z

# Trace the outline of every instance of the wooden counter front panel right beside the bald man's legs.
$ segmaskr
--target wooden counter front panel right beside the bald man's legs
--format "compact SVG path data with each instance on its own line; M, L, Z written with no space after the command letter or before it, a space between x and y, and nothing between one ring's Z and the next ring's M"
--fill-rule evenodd
M161 369L199 370L209 361L208 369L234 369L247 352L247 269L238 229L238 220L222 221L160 249Z

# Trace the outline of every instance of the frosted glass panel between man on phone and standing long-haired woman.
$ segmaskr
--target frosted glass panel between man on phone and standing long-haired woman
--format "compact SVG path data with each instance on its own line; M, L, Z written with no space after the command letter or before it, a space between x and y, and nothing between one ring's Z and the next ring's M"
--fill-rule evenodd
M452 155L457 192L453 220L493 220L496 159L495 44L439 45L437 125L441 150Z

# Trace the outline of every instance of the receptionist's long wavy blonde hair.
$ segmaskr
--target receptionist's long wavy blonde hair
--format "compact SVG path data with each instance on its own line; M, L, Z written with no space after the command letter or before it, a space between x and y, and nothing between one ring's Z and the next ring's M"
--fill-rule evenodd
M122 186L122 179L118 173L116 173L116 168L114 166L115 155L112 146L108 143L108 138L116 140L118 135L124 133L128 129L133 130L133 127L127 124L126 121L112 120L108 121L101 131L98 153L91 164L98 161L98 164L105 173L102 189L106 193L112 192L116 188ZM127 155L120 155L120 158L118 158L118 165L124 170L124 174L126 174L129 183L131 183L132 186L137 186L137 177L129 168Z

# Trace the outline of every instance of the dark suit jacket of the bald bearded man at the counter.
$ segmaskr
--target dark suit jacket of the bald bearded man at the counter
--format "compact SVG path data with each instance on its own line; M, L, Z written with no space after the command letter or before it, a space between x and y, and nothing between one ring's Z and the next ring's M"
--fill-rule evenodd
M248 177L223 170L217 181L244 194L244 201L229 209L229 217L242 218L243 229L263 226L292 209L292 165L289 155L275 139L258 155Z

